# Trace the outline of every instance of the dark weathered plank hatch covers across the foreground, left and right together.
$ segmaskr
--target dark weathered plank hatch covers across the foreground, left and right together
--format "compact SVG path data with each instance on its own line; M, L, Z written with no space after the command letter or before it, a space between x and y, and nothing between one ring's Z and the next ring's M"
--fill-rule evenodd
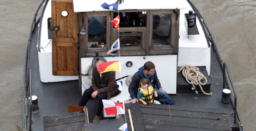
M232 131L225 109L142 103L127 103L125 107L126 116L122 115L121 122L115 121L115 126L112 125L113 122L106 122L101 128L117 130L125 123L126 118L128 131L132 130L128 114L130 110L135 131ZM92 131L99 129L98 126L102 126L104 122L105 120L101 120L99 123L85 124L84 113L64 113L44 117L44 131Z

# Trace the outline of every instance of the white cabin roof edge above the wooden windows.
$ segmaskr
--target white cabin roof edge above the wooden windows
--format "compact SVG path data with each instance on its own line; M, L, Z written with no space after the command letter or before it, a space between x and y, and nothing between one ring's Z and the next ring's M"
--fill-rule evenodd
M109 11L101 5L114 4L117 0L73 0L74 12ZM124 0L119 10L185 9L186 0Z

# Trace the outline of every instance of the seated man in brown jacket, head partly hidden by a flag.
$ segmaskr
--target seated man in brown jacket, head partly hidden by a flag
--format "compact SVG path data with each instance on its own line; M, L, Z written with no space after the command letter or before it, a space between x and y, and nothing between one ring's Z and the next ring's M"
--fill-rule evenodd
M116 71L99 73L99 65L104 61L98 60L96 66L92 69L92 86L86 89L82 94L79 106L84 107L89 99L98 98L98 109L92 122L98 122L101 119L103 110L103 99L110 99L118 92L116 89Z

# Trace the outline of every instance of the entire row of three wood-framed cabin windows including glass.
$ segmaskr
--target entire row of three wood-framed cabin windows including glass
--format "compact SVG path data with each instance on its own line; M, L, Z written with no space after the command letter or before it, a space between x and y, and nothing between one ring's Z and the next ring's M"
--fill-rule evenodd
M110 22L117 15L117 11L80 14L80 29L84 20L86 30L80 35L81 57L108 56L118 38L120 56L178 54L179 17L174 10L120 11L119 30Z

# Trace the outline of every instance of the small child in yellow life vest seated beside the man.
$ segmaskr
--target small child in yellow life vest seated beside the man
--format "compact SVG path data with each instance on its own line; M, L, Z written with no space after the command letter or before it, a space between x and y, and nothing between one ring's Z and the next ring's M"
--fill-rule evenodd
M138 94L137 98L140 102L142 102L144 105L147 103L153 103L154 97L158 97L158 94L156 93L155 89L151 86L150 82L146 78L142 78L139 81L139 85L141 87L138 88Z

